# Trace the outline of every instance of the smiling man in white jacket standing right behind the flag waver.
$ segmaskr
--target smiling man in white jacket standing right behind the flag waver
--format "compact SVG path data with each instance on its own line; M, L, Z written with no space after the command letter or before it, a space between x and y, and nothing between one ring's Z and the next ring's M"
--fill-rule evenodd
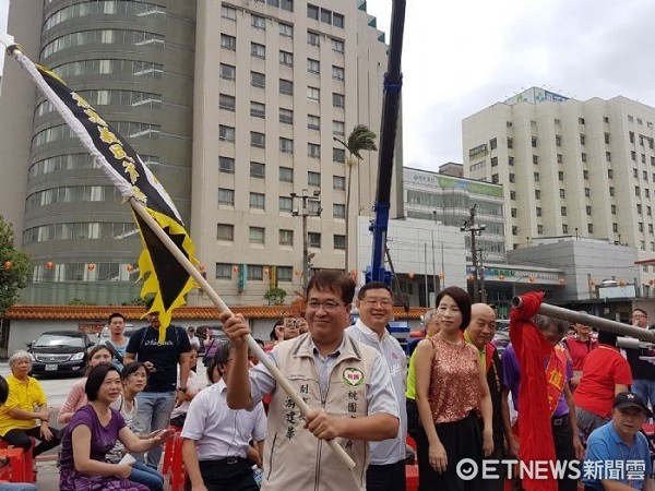
M391 288L381 282L367 283L357 294L356 306L359 319L355 325L346 328L346 334L372 346L382 355L391 372L394 393L401 409L401 428L397 436L381 442L369 442L371 454L366 472L366 489L367 491L404 491L407 438L407 411L404 403L407 358L398 340L386 330L393 309Z

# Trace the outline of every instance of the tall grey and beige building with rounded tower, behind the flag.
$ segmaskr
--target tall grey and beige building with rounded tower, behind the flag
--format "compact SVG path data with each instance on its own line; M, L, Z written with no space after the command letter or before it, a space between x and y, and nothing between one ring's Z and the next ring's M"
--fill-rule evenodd
M32 3L12 2L10 32ZM38 60L164 183L228 304L300 288L303 220L293 193L311 196L312 267L343 268L346 240L356 256L347 155L333 139L358 123L379 131L386 45L366 2L46 0L41 14ZM40 94L26 107L34 123L28 161L15 161L28 169L17 232L35 266L23 302L133 299L141 243L129 207ZM372 206L377 158L353 171L353 217Z

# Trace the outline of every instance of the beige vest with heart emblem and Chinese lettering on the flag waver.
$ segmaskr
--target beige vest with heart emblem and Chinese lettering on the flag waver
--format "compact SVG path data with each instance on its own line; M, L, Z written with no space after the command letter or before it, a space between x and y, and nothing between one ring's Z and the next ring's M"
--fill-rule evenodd
M377 352L344 336L344 349L330 374L326 394L321 394L309 334L276 347L277 367L309 407L322 407L336 417L367 416L367 384ZM303 426L299 409L277 387L269 406L262 490L365 491L368 443L337 439L356 463L349 471L330 446Z

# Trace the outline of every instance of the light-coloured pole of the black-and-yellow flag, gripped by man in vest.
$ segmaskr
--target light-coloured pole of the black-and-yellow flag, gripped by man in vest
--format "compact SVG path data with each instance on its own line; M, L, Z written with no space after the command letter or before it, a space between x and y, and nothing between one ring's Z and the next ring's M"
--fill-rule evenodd
M200 288L207 294L212 302L218 308L221 312L230 312L227 304L223 301L223 299L216 294L214 288L207 283L207 280L202 276L202 274L191 264L191 261L179 250L179 248L175 244L175 242L168 237L168 235L162 229L157 220L155 220L151 214L145 209L143 204L138 201L135 197L129 199L130 205L134 209L135 213L139 214L139 217L143 219L147 224L147 226L155 232L157 238L166 246L166 248L170 251L170 253L175 256L175 259L182 265L182 267L193 277L193 279L198 283ZM259 360L266 367L271 375L275 379L275 382L287 393L287 395L294 400L298 409L302 416L307 416L309 410L311 409L309 405L302 400L300 395L296 393L289 381L284 376L284 374L279 371L279 369L273 363L271 358L264 352L260 345L257 344L252 335L247 334L243 336L243 340L248 344L248 347L252 350L252 352L259 358ZM349 470L355 468L355 462L350 458L347 452L335 441L327 440L327 444L336 453L338 458L346 465Z

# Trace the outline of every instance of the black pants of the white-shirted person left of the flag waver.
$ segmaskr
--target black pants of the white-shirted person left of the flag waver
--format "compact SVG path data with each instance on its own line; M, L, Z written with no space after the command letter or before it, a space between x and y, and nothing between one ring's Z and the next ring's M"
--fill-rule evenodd
M258 491L252 463L240 457L200 460L200 474L209 491ZM191 482L187 481L187 490Z

